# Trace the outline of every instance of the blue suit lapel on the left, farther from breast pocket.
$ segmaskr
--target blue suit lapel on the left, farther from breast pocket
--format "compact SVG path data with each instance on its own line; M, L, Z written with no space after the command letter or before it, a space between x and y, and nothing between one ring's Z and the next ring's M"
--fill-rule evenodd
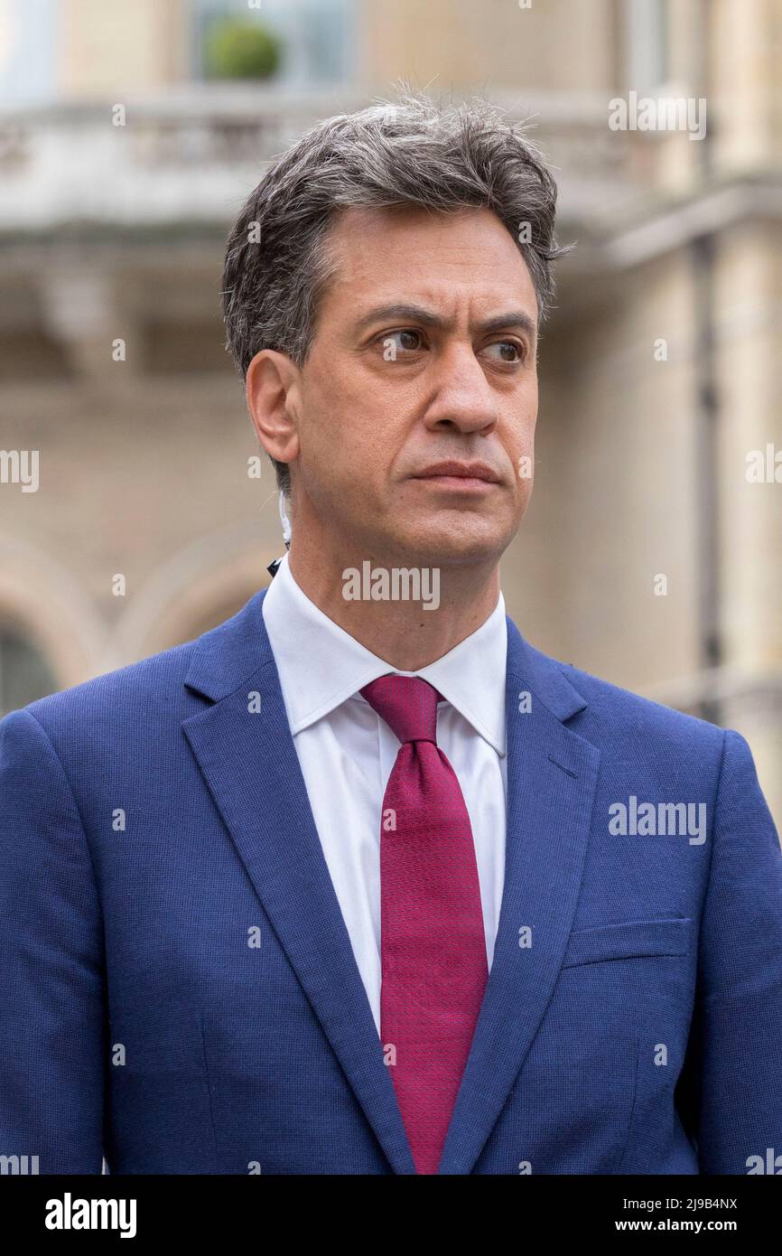
M261 603L200 638L186 685L213 706L183 721L269 921L395 1173L414 1173L372 1009L287 725ZM251 712L250 696L257 710Z

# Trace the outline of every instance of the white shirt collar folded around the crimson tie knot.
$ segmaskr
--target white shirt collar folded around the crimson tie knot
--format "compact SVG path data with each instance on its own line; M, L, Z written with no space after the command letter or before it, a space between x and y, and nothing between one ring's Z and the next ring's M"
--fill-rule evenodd
M291 734L315 723L387 672L384 659L346 633L299 588L287 554L262 603L264 624L275 657ZM505 755L507 624L502 593L488 619L453 649L417 672Z

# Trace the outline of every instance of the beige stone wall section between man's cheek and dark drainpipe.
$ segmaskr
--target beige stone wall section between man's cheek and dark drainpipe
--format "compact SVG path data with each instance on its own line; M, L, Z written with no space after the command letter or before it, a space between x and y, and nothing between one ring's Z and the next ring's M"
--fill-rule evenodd
M629 688L698 666L688 280L682 255L639 268L562 311L541 349L536 487L515 553L551 569L550 592L512 600L545 648Z

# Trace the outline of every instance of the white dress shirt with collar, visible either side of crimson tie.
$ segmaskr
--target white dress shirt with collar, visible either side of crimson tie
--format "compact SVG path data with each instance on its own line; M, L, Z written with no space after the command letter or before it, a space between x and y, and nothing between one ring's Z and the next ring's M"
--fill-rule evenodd
M399 741L358 692L395 672L422 676L438 706L437 744L469 815L491 968L505 878L507 625L502 593L481 627L437 662L398 672L299 588L287 555L264 598L264 623L331 882L380 1034L380 814Z

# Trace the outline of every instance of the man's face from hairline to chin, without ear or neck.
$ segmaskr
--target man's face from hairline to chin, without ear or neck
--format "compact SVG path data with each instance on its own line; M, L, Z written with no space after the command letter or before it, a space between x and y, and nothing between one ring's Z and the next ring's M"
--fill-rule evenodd
M497 560L532 491L537 414L537 303L516 244L488 210L409 207L344 211L330 242L294 511L368 559ZM492 479L426 475L446 461Z

